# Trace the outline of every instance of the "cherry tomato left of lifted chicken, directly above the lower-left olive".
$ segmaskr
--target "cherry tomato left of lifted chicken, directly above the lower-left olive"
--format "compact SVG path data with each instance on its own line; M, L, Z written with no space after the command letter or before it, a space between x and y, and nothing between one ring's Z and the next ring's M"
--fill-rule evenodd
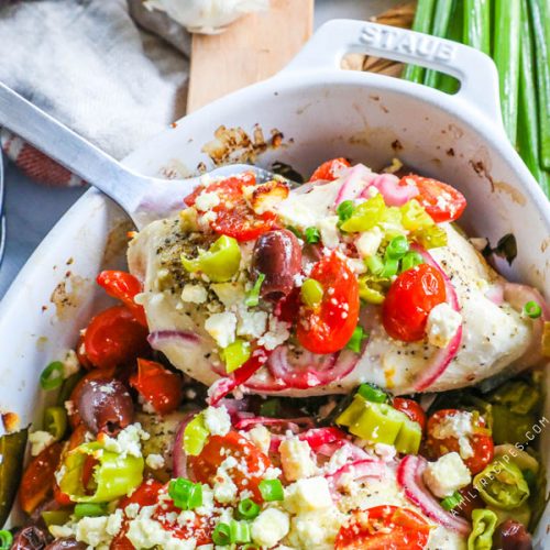
M125 306L114 306L98 314L84 337L82 353L97 369L130 363L147 350L147 329Z

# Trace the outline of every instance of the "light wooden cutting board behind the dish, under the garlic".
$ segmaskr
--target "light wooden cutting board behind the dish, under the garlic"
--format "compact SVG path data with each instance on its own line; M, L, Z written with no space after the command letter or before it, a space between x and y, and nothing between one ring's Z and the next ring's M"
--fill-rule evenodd
M311 36L314 0L271 0L221 34L194 34L187 112L282 69Z

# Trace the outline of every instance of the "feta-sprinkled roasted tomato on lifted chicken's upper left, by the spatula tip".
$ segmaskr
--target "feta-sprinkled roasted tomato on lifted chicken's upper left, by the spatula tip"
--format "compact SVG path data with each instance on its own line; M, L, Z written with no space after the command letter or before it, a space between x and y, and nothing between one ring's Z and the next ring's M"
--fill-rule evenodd
M254 174L245 173L222 182L215 182L206 188L195 189L184 200L187 206L195 206L197 197L202 191L216 191L220 204L212 208L216 212L216 219L210 222L212 230L233 237L238 241L251 241L273 229L277 219L273 212L255 213L246 202L243 189L255 184Z

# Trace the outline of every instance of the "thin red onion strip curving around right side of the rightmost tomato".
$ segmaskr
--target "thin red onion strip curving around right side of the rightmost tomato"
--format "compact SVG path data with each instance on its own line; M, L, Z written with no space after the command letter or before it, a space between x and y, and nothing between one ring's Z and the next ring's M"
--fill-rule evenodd
M457 296L457 290L452 285L451 280L447 276L447 273L440 267L440 265L433 260L433 257L418 244L411 244L410 248L422 255L424 261L439 271L443 277L446 284L447 301L454 309L454 311L460 312L459 298ZM462 324L457 330L455 334L452 337L449 344L443 349L438 349L436 353L430 358L430 362L420 373L420 376L415 382L414 388L416 392L424 392L430 387L447 370L451 361L455 358L460 349L460 343L462 342Z

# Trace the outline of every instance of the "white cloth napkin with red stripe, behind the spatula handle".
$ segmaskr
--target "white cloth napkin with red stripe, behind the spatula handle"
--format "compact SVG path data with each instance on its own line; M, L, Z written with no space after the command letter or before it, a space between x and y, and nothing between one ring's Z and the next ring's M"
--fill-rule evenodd
M189 34L141 0L0 2L0 80L117 158L185 113ZM20 138L1 145L31 178L82 182Z

